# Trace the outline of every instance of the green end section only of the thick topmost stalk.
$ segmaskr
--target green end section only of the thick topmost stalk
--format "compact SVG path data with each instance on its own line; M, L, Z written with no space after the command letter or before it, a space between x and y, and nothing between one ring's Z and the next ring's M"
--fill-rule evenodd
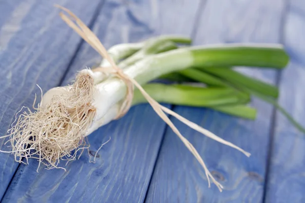
M255 66L282 69L289 61L282 46L264 44L223 44L193 47L198 66Z

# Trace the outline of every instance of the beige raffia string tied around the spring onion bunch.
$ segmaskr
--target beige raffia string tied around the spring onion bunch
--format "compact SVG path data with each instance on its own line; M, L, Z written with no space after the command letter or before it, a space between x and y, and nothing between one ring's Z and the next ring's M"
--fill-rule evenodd
M196 157L196 159L202 165L202 167L204 168L204 171L205 171L207 181L208 181L208 187L210 187L210 179L211 179L212 182L214 182L216 184L216 186L219 188L219 190L222 191L223 186L219 182L217 182L215 180L215 178L211 175L211 173L208 171L208 168L206 167L203 159L201 158L201 156L199 155L197 150L184 136L182 136L182 134L179 132L179 130L171 122L171 120L167 117L167 115L165 113L168 113L169 115L174 116L181 122L185 123L186 125L188 125L189 127L193 128L193 129L197 130L198 132L204 134L205 136L207 136L211 139L214 139L224 145L227 145L227 146L230 146L232 148L239 150L240 152L242 152L243 154L245 154L248 157L250 156L250 153L244 151L243 149L237 147L236 145L234 145L230 142L223 140L222 138L219 138L214 133L202 128L201 126L178 115L177 113L171 111L170 109L160 105L155 99L153 99L152 97L149 96L149 94L143 89L143 87L136 80L134 80L133 78L124 74L124 72L121 69L119 69L119 67L115 64L113 59L107 53L107 50L102 45L100 40L76 15L74 15L71 11L69 11L68 9L66 9L64 7L61 7L61 6L56 6L56 7L62 9L63 11L66 11L70 15L71 19L63 13L59 14L60 17L71 28L73 28L89 45L91 45L98 53L101 54L102 57L104 57L105 59L107 59L109 61L110 65L111 65L110 69L106 68L106 67L105 68L98 67L96 69L96 71L112 73L126 83L128 91L127 91L125 102L122 105L121 110L119 111L118 117L123 116L129 110L129 108L131 106L132 98L133 98L134 86L136 86L140 90L142 95L146 98L146 100L148 101L150 106L153 107L155 112L160 116L160 118L162 118L164 120L164 122L166 122L171 127L171 129L177 134L177 136L181 139L181 141L185 144L185 146L190 150L190 152ZM73 22L73 21L75 21L75 22Z

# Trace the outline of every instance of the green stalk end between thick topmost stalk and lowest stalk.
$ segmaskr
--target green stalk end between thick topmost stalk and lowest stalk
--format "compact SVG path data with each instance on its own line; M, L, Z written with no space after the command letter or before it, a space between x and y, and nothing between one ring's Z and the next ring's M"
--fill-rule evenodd
M199 67L199 69L216 77L222 78L244 91L245 88L243 87L247 87L248 89L266 96L272 96L274 98L279 96L279 89L276 86L243 75L237 71L229 69L228 67Z

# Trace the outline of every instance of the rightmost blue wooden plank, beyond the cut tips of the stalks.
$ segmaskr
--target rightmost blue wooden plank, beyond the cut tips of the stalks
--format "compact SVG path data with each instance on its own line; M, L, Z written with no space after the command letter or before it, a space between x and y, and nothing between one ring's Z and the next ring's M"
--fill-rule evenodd
M284 26L284 44L291 62L282 72L279 103L305 126L305 2L292 0ZM277 113L272 142L266 202L305 202L305 135Z

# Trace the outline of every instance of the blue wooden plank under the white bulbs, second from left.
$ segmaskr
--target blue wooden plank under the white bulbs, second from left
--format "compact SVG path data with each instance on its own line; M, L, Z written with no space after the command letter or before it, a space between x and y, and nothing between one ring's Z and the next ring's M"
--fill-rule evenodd
M185 1L172 3L170 0L107 1L94 31L107 48L164 33L190 36L199 1L192 5ZM100 56L92 48L82 46L64 83L68 83L77 70L99 60ZM83 154L80 160L66 166L67 173L63 170L36 173L37 162L31 161L29 166L19 168L4 202L100 202L101 199L103 202L142 202L164 127L164 122L149 105L132 108L124 118L88 137L93 151L111 137L99 152L97 163L89 163L89 157Z

